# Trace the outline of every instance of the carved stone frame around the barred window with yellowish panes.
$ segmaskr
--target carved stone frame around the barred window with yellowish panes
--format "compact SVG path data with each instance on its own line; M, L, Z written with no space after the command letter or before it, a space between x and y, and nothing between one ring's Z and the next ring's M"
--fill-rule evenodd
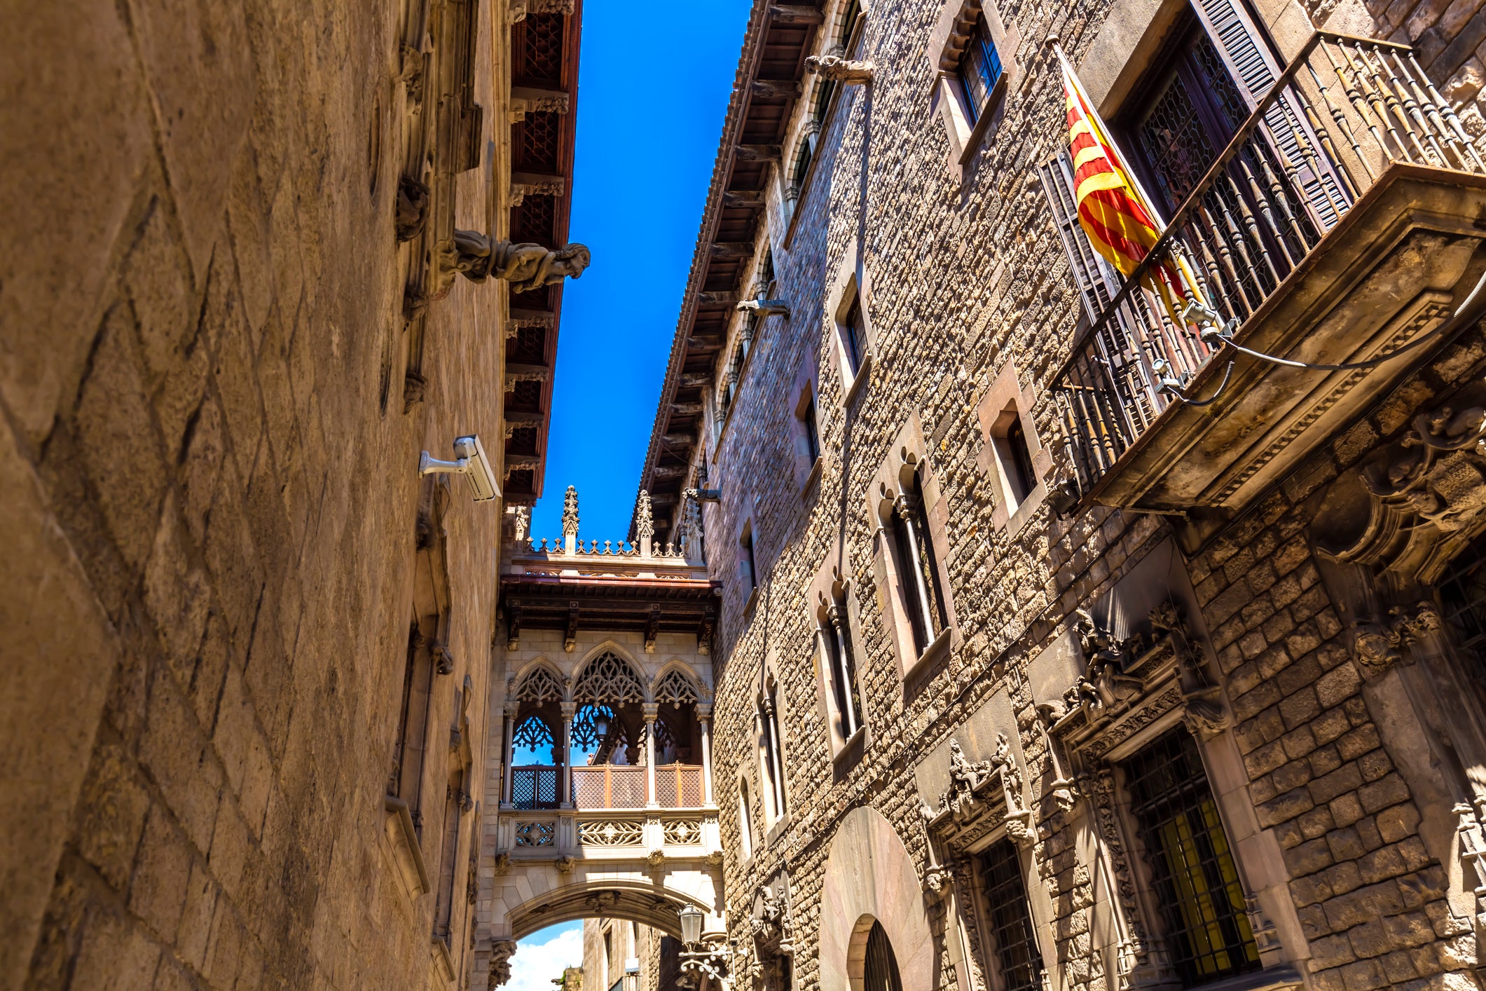
M1162 945L1165 918L1156 905L1150 856L1131 811L1123 764L1184 724L1202 756L1259 948L1260 970L1247 975L1245 987L1297 987L1300 975L1294 967L1309 954L1308 943L1290 897L1279 841L1272 829L1260 828L1250 801L1248 774L1224 689L1210 676L1217 664L1202 631L1187 626L1187 617L1199 614L1192 597L1177 588L1165 590L1152 609L1153 620L1158 611L1164 611L1164 618L1138 645L1134 639L1113 637L1088 612L1080 612L1068 634L1073 657L1083 658L1083 675L1062 700L1037 704L1039 730L1054 764L1049 790L1064 813L1080 798L1086 802L1098 863L1113 871L1103 886L1095 884L1091 911L1103 906L1113 932L1125 932L1128 943L1107 948L1106 964L1113 964L1116 975L1119 967L1129 966L1135 981L1141 979L1140 972L1144 979L1161 981L1164 975L1175 979ZM1119 660L1107 663L1110 657ZM1070 709L1080 692L1086 698L1106 698L1106 709ZM1109 710L1113 715L1098 715Z

